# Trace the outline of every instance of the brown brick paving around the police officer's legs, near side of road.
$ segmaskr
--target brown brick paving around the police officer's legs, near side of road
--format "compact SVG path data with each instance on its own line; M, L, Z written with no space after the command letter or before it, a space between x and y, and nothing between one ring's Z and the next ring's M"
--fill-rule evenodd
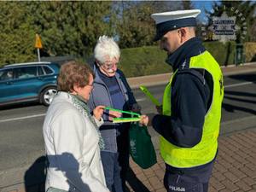
M218 144L209 192L256 192L256 128L220 136ZM165 164L157 153L157 164L146 170L131 160L132 172L127 182L131 192L166 191Z

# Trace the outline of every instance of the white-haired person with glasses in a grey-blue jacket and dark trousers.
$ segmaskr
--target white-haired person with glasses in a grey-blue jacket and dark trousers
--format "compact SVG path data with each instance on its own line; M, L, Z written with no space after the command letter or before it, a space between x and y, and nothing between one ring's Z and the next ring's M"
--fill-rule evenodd
M102 36L94 49L94 59L90 61L96 73L94 90L90 96L90 109L104 105L120 110L139 112L131 88L124 73L118 69L120 49L113 38ZM126 172L129 168L129 127L130 123L113 124L113 112L104 112L104 124L100 127L105 148L101 150L102 165L108 189L125 191Z

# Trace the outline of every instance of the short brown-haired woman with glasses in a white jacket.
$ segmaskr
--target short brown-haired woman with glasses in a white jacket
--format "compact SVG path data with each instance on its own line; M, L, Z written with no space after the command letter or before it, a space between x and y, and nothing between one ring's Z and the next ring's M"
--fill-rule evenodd
M87 102L95 74L89 66L69 61L61 66L59 92L44 119L44 143L49 161L46 186L49 192L107 192L98 130L104 106L90 113Z

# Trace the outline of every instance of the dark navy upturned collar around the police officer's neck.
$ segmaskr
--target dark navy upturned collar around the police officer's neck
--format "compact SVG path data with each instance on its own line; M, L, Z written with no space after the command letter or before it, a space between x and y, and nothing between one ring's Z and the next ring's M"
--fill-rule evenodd
M199 38L190 38L171 55L168 55L166 62L172 66L173 71L176 71L186 59L195 55L200 55L205 50L206 49Z

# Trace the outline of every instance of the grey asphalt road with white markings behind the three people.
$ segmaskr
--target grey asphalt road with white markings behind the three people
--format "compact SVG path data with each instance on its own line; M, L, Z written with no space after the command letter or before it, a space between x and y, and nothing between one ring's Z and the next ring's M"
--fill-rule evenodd
M256 127L256 73L225 77L224 87L221 133ZM158 85L148 90L161 100L164 88L165 85ZM143 113L155 113L154 106L140 90L134 90L134 94ZM1 179L8 179L6 174L24 172L44 155L42 126L46 111L38 104L0 109L0 187ZM152 128L149 132L157 138Z

